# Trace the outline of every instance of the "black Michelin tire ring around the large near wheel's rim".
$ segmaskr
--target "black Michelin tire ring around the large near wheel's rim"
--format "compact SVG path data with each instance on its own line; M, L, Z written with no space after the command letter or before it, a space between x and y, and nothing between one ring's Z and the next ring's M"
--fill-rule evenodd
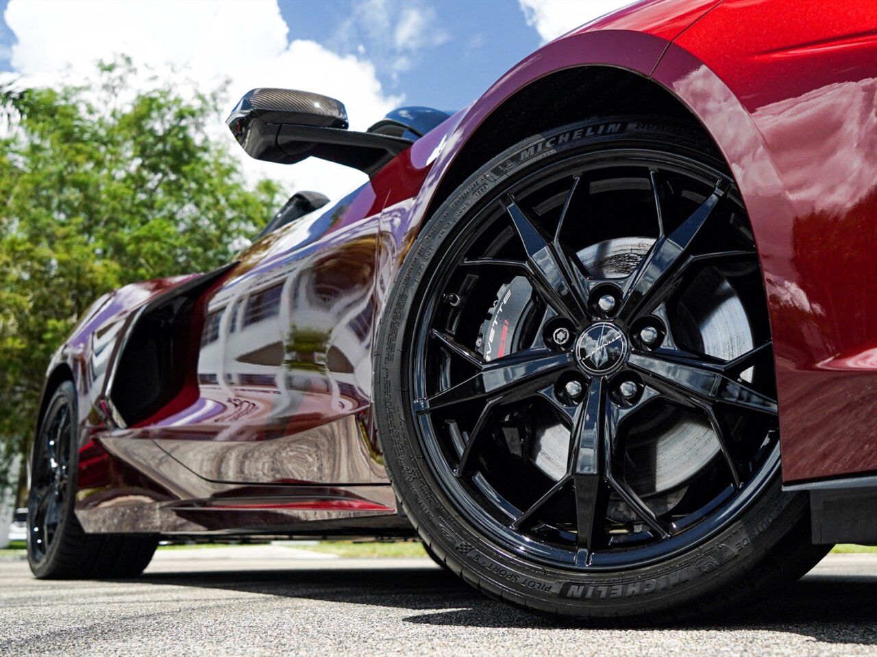
M489 204L500 194L510 198L504 196L506 191L534 173L580 156L612 158L628 152L688 159L724 177L731 186L728 194L736 194L731 173L709 141L686 126L660 120L611 117L565 125L498 154L432 215L403 262L375 346L374 399L380 409L375 418L396 495L436 561L489 596L530 611L602 622L659 623L733 608L757 591L770 590L772 583L802 576L824 556L827 548L810 545L806 495L781 491L778 440L763 480L743 489L754 491L751 497L730 517L717 521L709 534L652 562L601 569L560 567L484 529L472 507L453 492L453 482L437 474L443 467L436 464L441 450L425 447L430 439L424 438L413 408L412 372L421 366L415 364L415 347L429 329L420 328L424 314L433 312L424 298L431 285L445 289L439 286L446 283L431 280L444 280L439 263L446 251L457 248L454 240L462 239L476 217L487 221L483 216ZM659 197L657 191L655 196ZM456 305L455 301L459 299L450 303ZM766 317L766 308L762 310ZM474 347L468 349L457 355L471 360ZM770 372L773 378L773 369Z

